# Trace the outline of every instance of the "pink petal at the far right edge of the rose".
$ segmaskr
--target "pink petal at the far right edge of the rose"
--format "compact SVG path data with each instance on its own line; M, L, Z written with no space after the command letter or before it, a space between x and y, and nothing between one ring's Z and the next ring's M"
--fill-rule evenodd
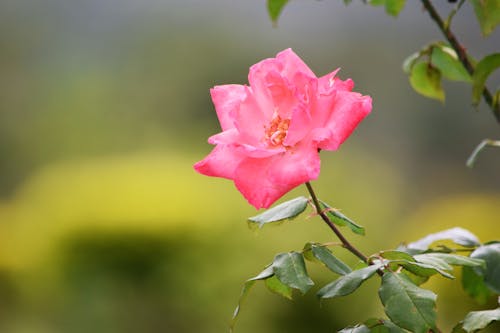
M319 148L336 150L356 126L372 109L370 96L363 96L355 92L339 91L335 96L333 111L325 124L330 130L330 139L323 140Z

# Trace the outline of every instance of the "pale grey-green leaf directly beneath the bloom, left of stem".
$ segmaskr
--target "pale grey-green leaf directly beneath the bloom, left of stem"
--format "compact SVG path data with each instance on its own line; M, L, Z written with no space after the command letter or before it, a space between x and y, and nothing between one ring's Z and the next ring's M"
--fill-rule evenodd
M262 228L267 223L291 220L306 209L308 202L309 200L306 197L298 197L268 209L262 214L250 217L248 221L250 223L257 223L259 228Z

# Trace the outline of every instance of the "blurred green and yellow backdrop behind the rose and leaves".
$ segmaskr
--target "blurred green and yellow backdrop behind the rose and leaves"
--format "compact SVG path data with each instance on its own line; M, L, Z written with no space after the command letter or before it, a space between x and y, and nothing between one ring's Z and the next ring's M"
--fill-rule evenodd
M498 51L499 31L481 38L468 6L454 29L472 55ZM361 1L292 1L277 28L265 0L1 1L0 331L223 332L243 281L275 253L331 241L314 218L249 230L256 211L232 183L192 169L219 131L209 88L246 83L288 47L373 97L355 134L323 153L316 184L366 227L350 236L363 251L455 225L498 239L500 153L464 166L498 125L467 85L446 83L442 105L400 69L438 39L416 1L397 19ZM479 308L459 285L427 284L443 290L445 329ZM376 288L320 306L314 292L289 302L258 285L238 332L332 332L380 315Z

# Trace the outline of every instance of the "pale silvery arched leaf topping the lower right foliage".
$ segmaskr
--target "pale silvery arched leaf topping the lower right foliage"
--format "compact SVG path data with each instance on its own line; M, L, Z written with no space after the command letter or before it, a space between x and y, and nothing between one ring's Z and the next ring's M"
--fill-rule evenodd
M427 235L424 238L417 240L416 242L408 244L407 247L410 249L425 251L432 243L441 240L451 240L455 244L465 247L474 247L480 244L479 240L473 233L466 229L455 227Z

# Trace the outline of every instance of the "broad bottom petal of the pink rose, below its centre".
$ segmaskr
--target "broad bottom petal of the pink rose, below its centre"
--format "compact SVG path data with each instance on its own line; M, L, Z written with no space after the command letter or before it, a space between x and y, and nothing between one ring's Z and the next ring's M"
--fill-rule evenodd
M311 179L320 170L313 149L287 152L270 158L248 158L236 171L235 185L255 208L268 208L285 193Z

